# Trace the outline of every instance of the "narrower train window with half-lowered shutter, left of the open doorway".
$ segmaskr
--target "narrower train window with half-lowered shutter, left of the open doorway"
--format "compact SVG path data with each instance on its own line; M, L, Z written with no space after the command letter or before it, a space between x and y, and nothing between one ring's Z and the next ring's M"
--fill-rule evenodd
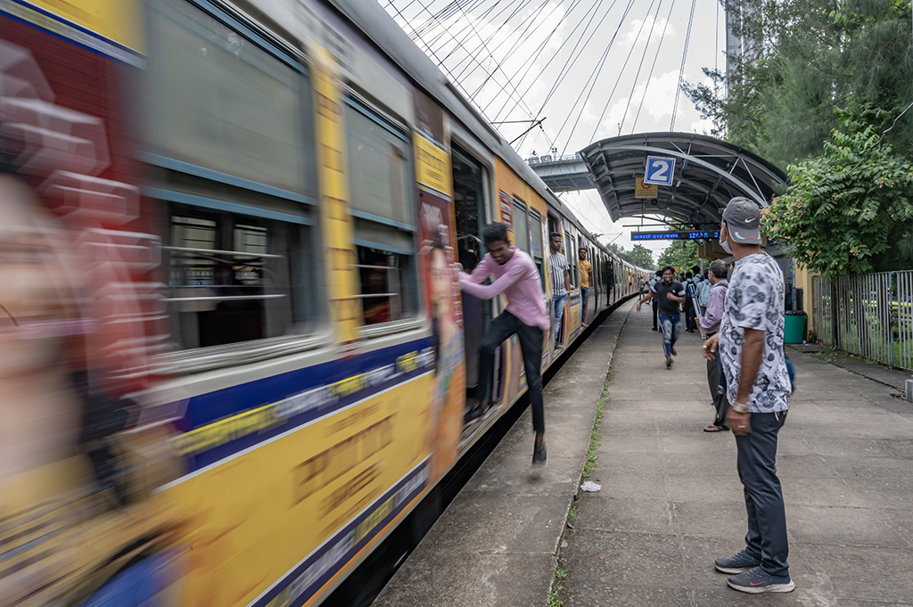
M418 310L409 139L354 99L346 130L362 322L407 319Z

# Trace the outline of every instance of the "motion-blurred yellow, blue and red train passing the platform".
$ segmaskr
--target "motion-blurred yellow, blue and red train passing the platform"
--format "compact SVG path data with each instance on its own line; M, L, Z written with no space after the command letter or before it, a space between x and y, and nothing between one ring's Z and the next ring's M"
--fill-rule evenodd
M552 318L561 234L543 369L647 275L373 0L3 0L0 141L3 606L321 602L526 389L482 226Z

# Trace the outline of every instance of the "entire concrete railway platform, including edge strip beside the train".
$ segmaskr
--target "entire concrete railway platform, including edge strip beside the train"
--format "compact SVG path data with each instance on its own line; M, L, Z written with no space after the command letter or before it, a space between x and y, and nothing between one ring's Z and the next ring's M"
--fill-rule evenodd
M796 590L726 587L743 547L730 433L712 421L700 340L666 371L647 309L616 310L546 387L549 467L530 467L524 413L375 605L913 603L913 405L897 388L789 351L797 389L780 434ZM596 466L579 490L611 361ZM556 570L561 574L556 576Z

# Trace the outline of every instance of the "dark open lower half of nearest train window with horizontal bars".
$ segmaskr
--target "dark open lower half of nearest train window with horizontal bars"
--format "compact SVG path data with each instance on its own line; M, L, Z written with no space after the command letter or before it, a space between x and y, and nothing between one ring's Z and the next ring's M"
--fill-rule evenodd
M168 217L166 302L180 348L277 337L305 319L305 225L186 204Z

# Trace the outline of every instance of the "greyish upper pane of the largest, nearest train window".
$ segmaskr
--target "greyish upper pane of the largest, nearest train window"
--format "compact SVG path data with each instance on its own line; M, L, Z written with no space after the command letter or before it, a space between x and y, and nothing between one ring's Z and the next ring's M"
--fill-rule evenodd
M149 151L313 194L306 77L189 2L148 4Z

